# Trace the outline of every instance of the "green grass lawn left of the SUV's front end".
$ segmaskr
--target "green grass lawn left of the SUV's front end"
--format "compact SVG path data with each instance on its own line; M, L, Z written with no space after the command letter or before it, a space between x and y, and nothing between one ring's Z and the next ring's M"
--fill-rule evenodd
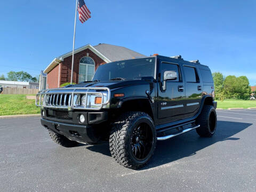
M0 94L0 116L39 114L34 99L26 99L26 94Z

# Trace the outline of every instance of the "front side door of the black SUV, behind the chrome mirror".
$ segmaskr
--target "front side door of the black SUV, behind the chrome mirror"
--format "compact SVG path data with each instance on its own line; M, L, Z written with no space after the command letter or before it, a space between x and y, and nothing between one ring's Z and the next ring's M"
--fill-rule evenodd
M177 79L166 82L166 90L163 91L163 76L165 71L176 71ZM184 99L185 87L182 80L180 66L175 63L161 62L159 66L161 83L158 83L157 117L160 123L177 120L185 112Z

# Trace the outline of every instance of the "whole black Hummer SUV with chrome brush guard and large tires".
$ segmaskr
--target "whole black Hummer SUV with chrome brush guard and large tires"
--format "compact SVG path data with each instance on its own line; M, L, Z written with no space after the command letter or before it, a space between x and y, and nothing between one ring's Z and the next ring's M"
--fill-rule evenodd
M180 56L107 63L90 82L40 92L36 105L53 141L108 141L116 161L132 169L148 162L156 140L193 129L211 137L217 126L209 67Z

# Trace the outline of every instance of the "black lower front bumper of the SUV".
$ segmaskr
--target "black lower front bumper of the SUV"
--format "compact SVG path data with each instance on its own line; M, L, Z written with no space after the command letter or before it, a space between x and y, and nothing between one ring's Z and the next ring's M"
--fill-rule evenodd
M97 142L97 129L91 125L76 125L69 123L61 123L41 118L41 124L55 133L64 135L70 140L78 142Z

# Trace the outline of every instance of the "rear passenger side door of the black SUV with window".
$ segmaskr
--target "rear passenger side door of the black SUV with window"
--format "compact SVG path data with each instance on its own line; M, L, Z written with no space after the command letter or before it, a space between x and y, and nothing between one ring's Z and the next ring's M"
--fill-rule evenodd
M183 73L186 89L186 116L194 116L201 105L202 82L199 79L198 70L195 66L183 65Z

